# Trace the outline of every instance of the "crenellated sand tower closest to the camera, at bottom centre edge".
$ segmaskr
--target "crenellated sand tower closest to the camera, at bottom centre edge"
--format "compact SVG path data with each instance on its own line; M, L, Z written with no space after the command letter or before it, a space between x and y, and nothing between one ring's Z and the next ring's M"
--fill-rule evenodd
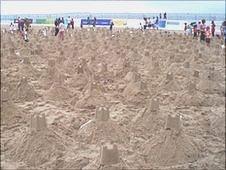
M119 163L118 147L115 144L106 144L101 148L100 164L112 165Z

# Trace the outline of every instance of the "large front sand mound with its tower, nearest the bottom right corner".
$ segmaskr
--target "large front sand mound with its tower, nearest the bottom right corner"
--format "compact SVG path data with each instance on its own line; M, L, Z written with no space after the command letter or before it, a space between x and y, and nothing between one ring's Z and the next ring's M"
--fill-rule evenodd
M168 117L166 130L151 138L144 146L147 161L153 166L184 164L199 158L196 144L183 134L180 122L175 118Z

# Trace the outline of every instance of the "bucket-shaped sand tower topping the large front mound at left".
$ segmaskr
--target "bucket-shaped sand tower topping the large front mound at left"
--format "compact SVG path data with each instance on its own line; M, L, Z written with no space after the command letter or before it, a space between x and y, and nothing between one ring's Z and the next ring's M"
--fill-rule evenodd
M34 114L31 116L31 131L45 131L47 129L45 114Z

